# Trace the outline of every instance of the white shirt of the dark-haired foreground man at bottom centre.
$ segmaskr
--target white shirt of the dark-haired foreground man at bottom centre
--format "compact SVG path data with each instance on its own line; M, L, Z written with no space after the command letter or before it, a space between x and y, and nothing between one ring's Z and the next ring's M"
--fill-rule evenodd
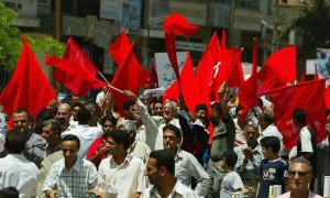
M158 189L153 186L143 191L142 198L162 198ZM198 196L193 191L193 189L183 185L179 179L176 179L175 186L167 198L197 198Z

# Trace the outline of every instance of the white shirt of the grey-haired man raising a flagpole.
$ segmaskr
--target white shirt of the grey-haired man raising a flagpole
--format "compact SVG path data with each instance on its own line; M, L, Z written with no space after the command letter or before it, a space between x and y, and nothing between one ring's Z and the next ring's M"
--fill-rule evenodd
M166 125L163 117L151 117L148 114L147 107L140 99L136 100L136 105L139 106L139 113L145 127L145 144L150 147L151 151L163 150L163 128ZM176 118L173 118L169 121L169 124L173 124L180 129L179 121Z

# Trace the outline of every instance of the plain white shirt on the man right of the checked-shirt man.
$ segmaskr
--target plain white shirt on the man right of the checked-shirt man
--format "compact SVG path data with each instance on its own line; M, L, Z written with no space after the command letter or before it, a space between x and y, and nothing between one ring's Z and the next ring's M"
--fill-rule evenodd
M144 163L130 154L118 165L113 156L105 158L99 166L98 190L105 197L132 197L144 189Z

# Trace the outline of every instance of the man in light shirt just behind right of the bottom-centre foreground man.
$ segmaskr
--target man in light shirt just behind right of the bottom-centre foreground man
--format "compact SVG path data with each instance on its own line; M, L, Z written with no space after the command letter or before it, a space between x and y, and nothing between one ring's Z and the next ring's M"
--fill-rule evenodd
M194 177L197 183L195 193L198 197L205 197L210 186L210 177L193 154L179 148L180 142L182 133L177 127L168 124L163 128L164 147L170 151L175 158L175 176L188 187L191 187Z

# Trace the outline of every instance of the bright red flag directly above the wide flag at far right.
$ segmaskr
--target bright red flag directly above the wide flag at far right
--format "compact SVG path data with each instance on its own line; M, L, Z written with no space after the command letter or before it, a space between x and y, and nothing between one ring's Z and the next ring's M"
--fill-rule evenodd
M296 46L282 48L271 55L257 74L262 80L258 92L272 90L296 80Z

